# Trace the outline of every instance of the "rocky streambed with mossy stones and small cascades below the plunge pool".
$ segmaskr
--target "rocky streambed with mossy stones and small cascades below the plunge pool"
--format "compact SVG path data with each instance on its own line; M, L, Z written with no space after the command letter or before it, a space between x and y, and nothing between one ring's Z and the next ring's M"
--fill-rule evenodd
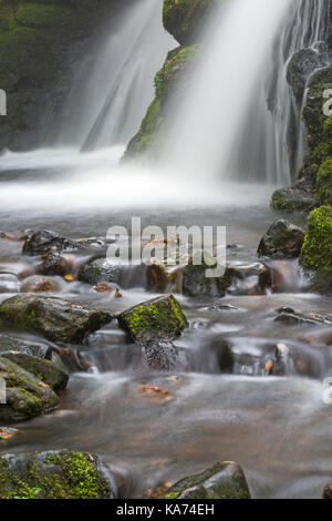
M303 217L209 212L231 223L214 285L190 262L107 262L105 237L54 217L1 234L2 497L323 494L332 313L299 266Z

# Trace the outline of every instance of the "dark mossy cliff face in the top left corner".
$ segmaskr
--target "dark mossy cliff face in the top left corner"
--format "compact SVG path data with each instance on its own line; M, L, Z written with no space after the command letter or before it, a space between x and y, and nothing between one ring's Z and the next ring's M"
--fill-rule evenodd
M0 118L0 150L30 149L51 133L71 85L72 63L105 13L129 0L0 0L0 89L8 115ZM49 126L38 132L41 120Z

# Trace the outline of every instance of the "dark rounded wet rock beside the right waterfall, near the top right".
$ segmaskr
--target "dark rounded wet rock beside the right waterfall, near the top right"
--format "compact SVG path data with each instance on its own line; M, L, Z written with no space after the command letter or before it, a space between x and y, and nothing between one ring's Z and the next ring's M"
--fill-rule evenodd
M313 49L301 49L292 55L287 68L287 81L299 105L302 102L308 79L323 63L322 53Z

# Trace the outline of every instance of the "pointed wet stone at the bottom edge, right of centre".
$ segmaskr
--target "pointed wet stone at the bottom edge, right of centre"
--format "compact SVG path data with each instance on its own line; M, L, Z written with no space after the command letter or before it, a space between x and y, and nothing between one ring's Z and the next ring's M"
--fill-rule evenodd
M251 499L243 470L226 461L184 478L173 484L162 499Z

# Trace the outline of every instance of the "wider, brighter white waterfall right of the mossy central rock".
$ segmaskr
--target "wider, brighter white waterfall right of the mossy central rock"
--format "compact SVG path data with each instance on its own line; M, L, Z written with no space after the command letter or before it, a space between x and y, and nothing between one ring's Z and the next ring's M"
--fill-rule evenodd
M300 129L300 111L287 64L323 38L324 2L224 2L204 29L193 88L174 108L163 157L170 170L206 180L291 182L289 130L292 118Z

